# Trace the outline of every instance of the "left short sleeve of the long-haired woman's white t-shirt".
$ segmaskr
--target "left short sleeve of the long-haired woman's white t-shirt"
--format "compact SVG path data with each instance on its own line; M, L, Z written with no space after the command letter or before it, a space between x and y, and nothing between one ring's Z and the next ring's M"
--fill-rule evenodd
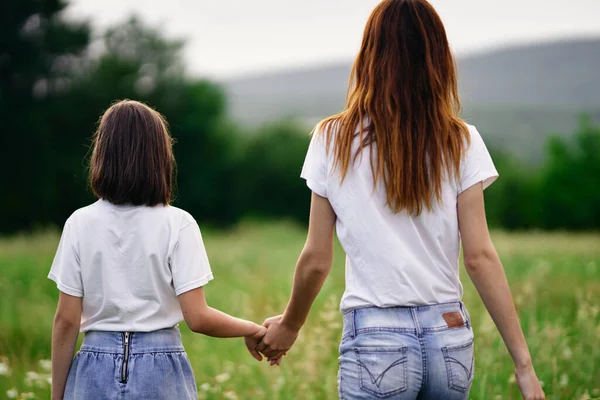
M321 197L327 197L327 147L325 134L315 129L304 159L300 176L306 185Z

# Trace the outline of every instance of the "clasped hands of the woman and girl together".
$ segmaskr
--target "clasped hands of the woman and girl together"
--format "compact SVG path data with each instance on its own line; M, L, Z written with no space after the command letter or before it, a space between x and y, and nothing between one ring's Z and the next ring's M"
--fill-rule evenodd
M252 357L261 361L262 353L271 365L281 363L282 357L298 338L298 330L285 325L282 321L282 315L268 318L263 323L264 331L246 338L246 347ZM259 335L262 336L259 337Z

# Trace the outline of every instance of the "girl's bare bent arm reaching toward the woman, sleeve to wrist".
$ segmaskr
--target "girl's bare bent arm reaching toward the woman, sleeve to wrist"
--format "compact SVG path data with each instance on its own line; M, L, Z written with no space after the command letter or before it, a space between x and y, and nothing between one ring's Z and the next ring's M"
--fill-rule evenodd
M179 296L183 318L188 327L207 336L230 338L253 336L263 329L254 322L232 317L206 304L204 289L198 288Z

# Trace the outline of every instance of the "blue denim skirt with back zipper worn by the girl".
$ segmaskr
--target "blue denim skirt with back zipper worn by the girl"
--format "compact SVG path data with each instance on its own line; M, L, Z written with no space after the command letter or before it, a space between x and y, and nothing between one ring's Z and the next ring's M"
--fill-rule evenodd
M198 399L179 329L87 332L64 399Z

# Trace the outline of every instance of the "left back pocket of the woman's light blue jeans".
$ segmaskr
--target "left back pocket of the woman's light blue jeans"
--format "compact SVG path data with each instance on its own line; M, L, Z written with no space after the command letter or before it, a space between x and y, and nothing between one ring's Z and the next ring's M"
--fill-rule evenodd
M383 399L407 389L406 347L361 347L354 351L363 391Z

